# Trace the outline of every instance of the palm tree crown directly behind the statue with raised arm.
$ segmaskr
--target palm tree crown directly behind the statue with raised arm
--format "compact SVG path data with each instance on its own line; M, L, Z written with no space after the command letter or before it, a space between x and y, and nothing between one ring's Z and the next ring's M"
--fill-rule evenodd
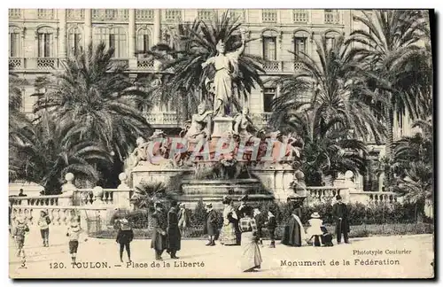
M195 96L196 92L200 90L203 97L207 98L206 79L214 77L214 69L202 69L201 64L217 54L216 45L220 40L225 43L227 51L236 50L240 46L240 26L237 19L229 17L229 12L208 24L195 20L192 24L179 25L176 29L176 47L165 50L167 58L159 58L163 62L163 71L174 72L166 88L170 92L163 94L165 98L162 102L172 100L179 103L186 110L189 119L202 100ZM249 41L253 40L247 42ZM247 98L256 84L262 86L260 73L264 73L264 70L261 63L262 59L253 55L243 54L239 58L239 75L233 81L237 95ZM175 101L177 95L180 98ZM240 109L238 101L234 105L237 110Z

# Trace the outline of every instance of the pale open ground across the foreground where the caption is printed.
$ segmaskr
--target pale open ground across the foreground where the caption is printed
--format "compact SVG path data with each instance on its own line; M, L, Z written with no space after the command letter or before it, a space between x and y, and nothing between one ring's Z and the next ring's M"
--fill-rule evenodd
M39 230L37 230L39 231ZM52 231L52 230L51 230ZM433 260L432 236L398 236L354 238L351 244L333 247L288 247L276 244L275 249L260 248L262 265L260 272L245 274L239 267L242 257L241 246L214 247L202 240L183 240L182 250L177 253L179 260L155 261L150 248L151 240L135 240L131 244L134 265L120 264L119 246L113 239L89 238L81 242L77 259L82 266L71 266L67 239L61 231L50 235L48 248L41 246L39 234L31 230L26 241L26 268L20 268L21 261L15 257L15 244L10 240L10 275L12 277L39 278L239 278L239 277L280 277L280 278L322 278L322 277L429 277ZM31 240L30 238L35 238ZM38 238L38 240L36 239ZM334 241L335 244L335 241ZM382 255L354 255L354 250L380 250ZM385 254L386 250L407 250L408 255ZM124 255L126 260L126 253ZM333 262L331 262L333 260ZM348 260L349 265L343 266ZM356 260L399 260L398 265L362 266ZM324 266L290 266L291 262L312 261ZM335 266L335 262L338 266ZM60 264L62 263L62 264ZM158 265L156 265L158 263ZM330 263L333 263L331 266ZM369 262L370 263L370 262ZM303 262L301 263L303 264ZM317 263L315 263L317 264ZM120 265L120 266L115 266ZM60 268L60 266L63 266ZM57 267L57 268L56 268Z

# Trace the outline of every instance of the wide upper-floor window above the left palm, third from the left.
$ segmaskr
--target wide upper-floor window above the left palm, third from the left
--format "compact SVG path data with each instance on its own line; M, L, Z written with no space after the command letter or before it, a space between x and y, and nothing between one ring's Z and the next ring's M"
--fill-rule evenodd
M106 48L113 48L113 58L128 58L128 42L123 27L96 27L94 43L103 42Z

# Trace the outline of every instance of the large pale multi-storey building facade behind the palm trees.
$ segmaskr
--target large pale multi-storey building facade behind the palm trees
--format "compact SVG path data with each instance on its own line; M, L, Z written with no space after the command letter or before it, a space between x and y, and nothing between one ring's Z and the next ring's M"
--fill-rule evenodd
M35 79L60 69L63 59L73 56L78 48L104 42L115 49L115 61L128 65L130 76L144 77L155 72L155 65L149 58L138 57L140 52L150 50L157 43L172 43L178 22L191 22L196 18L210 21L222 12L214 9L10 9L9 64L15 74L26 79L22 87L23 112L32 113L35 98L30 95L36 92ZM259 126L266 124L272 112L270 103L279 93L278 87L268 80L292 74L299 68L290 50L315 57L315 39L321 35L333 45L335 36L349 35L354 29L362 28L354 20L359 12L353 10L234 9L229 12L243 23L248 37L257 39L248 43L245 52L266 60L265 86L254 89L248 100L254 122ZM146 112L146 117L153 127L182 126L170 106L158 105ZM395 122L395 138L408 133L410 123L408 116L400 115ZM383 147L374 146L374 156L382 150Z

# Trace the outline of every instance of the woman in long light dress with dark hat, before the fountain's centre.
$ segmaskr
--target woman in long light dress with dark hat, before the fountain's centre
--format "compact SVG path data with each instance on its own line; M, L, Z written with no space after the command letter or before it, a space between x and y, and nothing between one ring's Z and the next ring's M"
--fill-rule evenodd
M237 245L236 229L238 224L237 213L232 206L230 197L223 198L223 226L220 232L220 243L223 245Z

